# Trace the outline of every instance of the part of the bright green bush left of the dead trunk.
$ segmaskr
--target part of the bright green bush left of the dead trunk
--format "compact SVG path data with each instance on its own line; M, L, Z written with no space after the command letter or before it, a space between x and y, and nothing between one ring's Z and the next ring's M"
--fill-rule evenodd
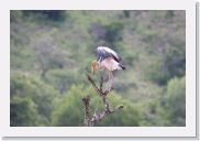
M59 101L55 104L53 124L59 127L82 126L84 105L81 98L87 95L84 86L71 86Z

